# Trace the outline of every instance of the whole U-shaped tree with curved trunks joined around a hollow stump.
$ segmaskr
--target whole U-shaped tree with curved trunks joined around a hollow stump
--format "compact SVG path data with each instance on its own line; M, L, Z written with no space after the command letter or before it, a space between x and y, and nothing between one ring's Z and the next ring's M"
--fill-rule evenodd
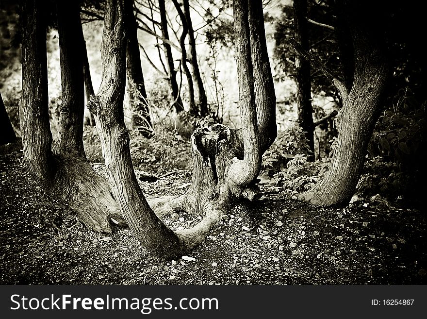
M259 34L264 23L262 2L240 0L233 5L242 129L215 125L196 130L191 137L194 171L189 190L179 198L148 201L134 174L129 134L123 119L126 70L123 22L127 5L127 0L106 2L102 82L89 109L96 116L114 198L131 230L150 252L162 257L177 256L204 240L211 227L227 212L233 198L256 198L250 194L261 168L262 150L268 148L276 136L275 130L267 125L274 122L275 127L274 87L255 88L272 84L265 34ZM255 44L252 39L259 41ZM261 56L255 58L251 47ZM259 70L262 72L258 73ZM272 95L267 99L265 92ZM258 122L257 111L263 115ZM173 232L160 220L165 214L182 210L203 218L194 228L179 232Z

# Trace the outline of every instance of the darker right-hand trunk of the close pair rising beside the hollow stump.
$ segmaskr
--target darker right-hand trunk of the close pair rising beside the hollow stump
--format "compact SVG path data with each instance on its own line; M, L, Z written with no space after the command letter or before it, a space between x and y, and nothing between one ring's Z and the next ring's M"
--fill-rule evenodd
M276 139L277 124L276 93L265 39L262 1L248 1L248 19L258 130L264 153Z

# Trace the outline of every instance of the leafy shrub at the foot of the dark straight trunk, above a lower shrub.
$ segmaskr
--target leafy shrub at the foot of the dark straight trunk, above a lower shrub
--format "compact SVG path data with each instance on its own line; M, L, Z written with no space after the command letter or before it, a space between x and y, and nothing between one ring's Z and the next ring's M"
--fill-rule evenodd
M298 125L291 126L286 131L279 131L276 140L263 155L262 171L273 176L286 168L289 160L297 154L309 151L307 139Z

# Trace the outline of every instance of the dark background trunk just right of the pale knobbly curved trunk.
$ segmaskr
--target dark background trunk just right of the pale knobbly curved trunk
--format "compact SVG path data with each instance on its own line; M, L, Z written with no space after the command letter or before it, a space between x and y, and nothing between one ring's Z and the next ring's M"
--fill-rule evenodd
M126 53L126 73L128 80L128 94L132 106L132 126L143 136L150 138L153 135L150 112L145 90L144 75L141 67L141 56L138 43L138 24L133 14L133 1L127 8L128 44Z

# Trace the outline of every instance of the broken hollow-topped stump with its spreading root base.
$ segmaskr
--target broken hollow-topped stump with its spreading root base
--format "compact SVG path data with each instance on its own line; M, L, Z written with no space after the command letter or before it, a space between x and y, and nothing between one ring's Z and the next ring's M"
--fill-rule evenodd
M194 166L189 189L177 198L147 199L158 217L185 211L202 218L193 228L176 232L184 251L193 250L209 235L232 201L256 201L262 196L256 185L240 187L230 180L232 164L239 161L234 148L238 145L236 136L236 131L225 125L197 129L191 136Z

